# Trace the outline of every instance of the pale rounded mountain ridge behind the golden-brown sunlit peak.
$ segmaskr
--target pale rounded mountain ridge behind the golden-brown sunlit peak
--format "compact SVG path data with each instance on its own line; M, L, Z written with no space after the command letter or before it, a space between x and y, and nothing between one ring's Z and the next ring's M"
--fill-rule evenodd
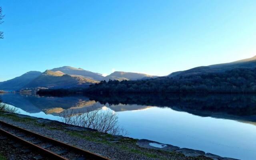
M94 73L94 72L90 72L88 70L84 70L82 68L74 68L74 67L70 67L70 66L53 68L51 71L54 71L54 72L60 71L60 72L63 72L64 74L83 76L87 79L98 80L98 81L102 80L102 78L104 78L104 76L102 76L102 74Z

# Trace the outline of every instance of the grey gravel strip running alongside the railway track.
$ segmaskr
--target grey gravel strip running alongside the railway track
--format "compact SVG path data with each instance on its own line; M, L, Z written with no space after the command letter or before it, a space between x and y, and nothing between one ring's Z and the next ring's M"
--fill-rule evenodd
M109 144L104 144L101 142L93 142L90 140L86 140L84 138L80 138L77 136L71 136L70 134L64 132L63 130L53 130L53 129L48 129L46 127L42 126L37 126L33 122L20 122L20 121L14 121L8 116L0 116L0 120L14 124L16 126L25 128L27 130L30 130L32 132L36 132L39 134L42 134L44 136L48 136L51 138L54 138L56 140L77 146L79 148L89 150L90 152L94 152L97 154L100 154L102 156L106 156L112 160L159 160L159 159L165 159L165 160L194 160L193 157L184 157L184 155L181 154L166 154L164 152L158 152L157 150L152 150L152 149L146 149L146 148L140 148L137 153L138 148L134 148L133 145L126 145L124 148L127 149L122 149L118 147L117 145L109 145ZM45 124L46 126L48 125L47 123ZM58 124L60 125L60 124ZM53 126L51 123L50 126ZM3 142L0 140L0 142ZM130 152L130 149L134 149L134 152ZM149 152L149 155L158 155L161 156L161 158L154 158L154 156L147 156L142 153ZM15 152L14 152L15 154ZM16 159L15 157L13 158L12 154L12 159ZM8 156L8 154L5 154ZM10 158L10 155L8 156ZM17 159L23 159L23 157L17 156ZM29 159L29 158L28 158ZM201 160L208 160L208 158L202 158Z

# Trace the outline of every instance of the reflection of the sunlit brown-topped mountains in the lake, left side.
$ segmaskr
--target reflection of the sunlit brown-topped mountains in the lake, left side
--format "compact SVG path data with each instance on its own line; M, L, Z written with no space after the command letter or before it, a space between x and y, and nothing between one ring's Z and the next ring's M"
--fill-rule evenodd
M48 97L38 96L35 93L7 93L0 94L0 97L4 103L29 113L45 112L46 114L58 115L66 109L81 110L89 106L98 106L99 108L103 106L84 96Z

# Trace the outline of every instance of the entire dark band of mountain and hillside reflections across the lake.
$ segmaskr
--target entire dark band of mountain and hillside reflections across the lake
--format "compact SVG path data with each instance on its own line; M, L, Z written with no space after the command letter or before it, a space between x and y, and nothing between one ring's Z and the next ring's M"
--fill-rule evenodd
M87 107L106 106L115 112L168 107L202 117L223 118L256 124L256 96L250 94L213 95L89 95L89 96L38 96L35 93L0 94L4 103L11 104L29 113L45 112L59 115L63 110L82 112Z

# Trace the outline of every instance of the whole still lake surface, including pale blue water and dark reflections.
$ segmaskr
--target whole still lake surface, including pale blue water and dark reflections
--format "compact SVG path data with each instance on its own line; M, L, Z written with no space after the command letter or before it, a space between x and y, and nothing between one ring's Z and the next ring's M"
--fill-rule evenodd
M48 97L0 94L20 114L60 120L64 110L110 108L128 136L223 157L256 159L254 95L122 95Z

